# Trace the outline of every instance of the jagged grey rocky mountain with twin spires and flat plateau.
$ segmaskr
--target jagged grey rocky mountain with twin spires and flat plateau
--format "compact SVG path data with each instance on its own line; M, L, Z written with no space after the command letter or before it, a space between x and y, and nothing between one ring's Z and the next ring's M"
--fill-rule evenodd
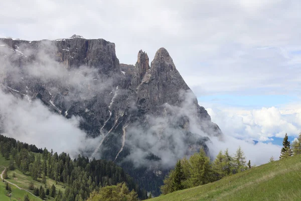
M79 128L97 140L82 154L116 162L154 194L179 158L201 147L209 154L210 136L223 135L165 48L150 65L142 50L127 65L103 39L2 38L0 62L6 93L40 99L67 119L80 117Z

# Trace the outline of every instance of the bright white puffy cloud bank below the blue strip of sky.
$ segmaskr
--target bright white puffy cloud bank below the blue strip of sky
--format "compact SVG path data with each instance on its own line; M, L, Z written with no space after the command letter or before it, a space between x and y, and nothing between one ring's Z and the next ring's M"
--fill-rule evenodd
M224 134L244 140L269 141L272 137L283 138L285 133L297 136L301 126L301 113L282 114L275 107L257 110L206 110Z

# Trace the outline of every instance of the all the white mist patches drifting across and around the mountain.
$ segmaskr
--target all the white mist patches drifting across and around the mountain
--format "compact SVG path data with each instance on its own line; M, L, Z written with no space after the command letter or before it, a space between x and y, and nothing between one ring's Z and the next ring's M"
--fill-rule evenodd
M39 99L32 100L33 86L28 85L26 80L35 79L42 82L47 86L51 98L52 94L68 90L66 101L70 103L90 99L105 90L112 91L115 87L114 80L101 75L97 68L67 68L55 60L56 51L57 47L49 41L43 42L38 51L22 45L16 47L16 50L6 45L1 46L0 81L4 85L0 87L0 131L4 131L8 137L41 148L67 152L72 157L78 154L90 156L103 136L88 137L87 133L79 128L80 122L83 121L81 117L72 116L67 119L51 111ZM17 67L18 54L22 59L34 56L35 62L27 63L22 68ZM8 85L14 88L8 90ZM162 105L160 110L163 115L159 117L146 115L144 119L149 125L147 128L141 126L138 121L126 127L125 146L130 149L130 154L123 159L124 161L132 161L135 167L169 169L178 159L189 157L203 146L208 146L211 158L226 148L234 154L238 146L241 146L247 160L256 165L266 163L271 156L279 156L280 147L276 145L261 142L255 145L252 140L239 140L227 132L223 136L214 137L217 133L210 126L211 122L198 119L194 93L190 90L179 93L182 104ZM135 103L131 107L136 108ZM112 135L116 134L112 132ZM153 156L160 160L147 159ZM98 154L97 158L103 156Z

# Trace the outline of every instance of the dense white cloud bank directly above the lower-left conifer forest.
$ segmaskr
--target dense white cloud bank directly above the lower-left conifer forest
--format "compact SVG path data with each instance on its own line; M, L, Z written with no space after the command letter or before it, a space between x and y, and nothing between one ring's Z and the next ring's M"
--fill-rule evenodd
M96 146L95 140L78 128L79 118L66 119L39 100L29 103L0 89L0 114L6 136L38 147L67 152L72 157Z

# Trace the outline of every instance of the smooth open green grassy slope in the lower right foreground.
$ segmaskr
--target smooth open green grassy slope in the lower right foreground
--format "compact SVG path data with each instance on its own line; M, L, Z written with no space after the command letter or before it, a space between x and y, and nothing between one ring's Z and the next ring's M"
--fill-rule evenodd
M150 200L301 200L300 197L301 155L298 155Z

